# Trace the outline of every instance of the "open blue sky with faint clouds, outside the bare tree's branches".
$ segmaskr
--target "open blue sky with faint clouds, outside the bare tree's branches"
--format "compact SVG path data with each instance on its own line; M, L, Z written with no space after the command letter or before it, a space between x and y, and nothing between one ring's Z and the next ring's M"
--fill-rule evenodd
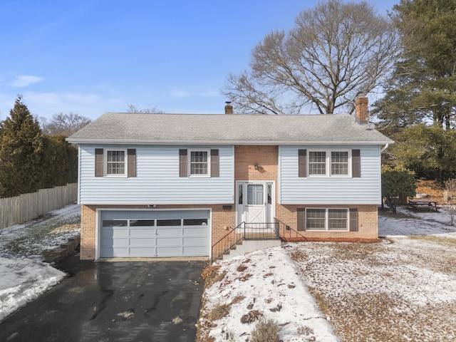
M0 120L18 94L34 115L90 119L128 105L223 113L229 73L316 0L0 0ZM375 4L386 14L399 0ZM374 3L372 1L372 3Z

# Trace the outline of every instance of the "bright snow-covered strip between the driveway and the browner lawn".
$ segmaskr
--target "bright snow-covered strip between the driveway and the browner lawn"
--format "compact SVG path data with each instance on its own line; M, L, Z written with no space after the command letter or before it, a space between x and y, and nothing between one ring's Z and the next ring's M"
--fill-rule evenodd
M235 257L219 266L219 273L226 276L204 292L207 315L199 321L212 327L215 341L247 341L258 315L279 325L284 342L338 341L281 247ZM224 308L229 314L214 322L214 315ZM243 316L248 323L242 323Z

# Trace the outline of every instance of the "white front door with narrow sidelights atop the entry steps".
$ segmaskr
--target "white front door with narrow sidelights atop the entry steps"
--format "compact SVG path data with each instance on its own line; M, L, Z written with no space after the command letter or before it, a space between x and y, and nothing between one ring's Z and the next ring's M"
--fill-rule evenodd
M237 183L237 224L273 221L273 183Z

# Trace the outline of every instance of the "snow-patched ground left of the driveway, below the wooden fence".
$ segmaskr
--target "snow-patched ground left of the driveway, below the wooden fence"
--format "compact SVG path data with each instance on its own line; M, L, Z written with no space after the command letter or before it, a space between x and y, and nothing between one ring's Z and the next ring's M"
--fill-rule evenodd
M42 252L79 234L80 208L70 204L0 230L0 322L65 277L42 262Z

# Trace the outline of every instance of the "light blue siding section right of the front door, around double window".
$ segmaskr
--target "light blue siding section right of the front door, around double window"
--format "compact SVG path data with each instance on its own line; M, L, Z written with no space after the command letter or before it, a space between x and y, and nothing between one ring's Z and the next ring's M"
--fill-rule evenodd
M361 177L298 177L298 150L361 150ZM278 187L280 204L380 204L380 146L280 146Z

